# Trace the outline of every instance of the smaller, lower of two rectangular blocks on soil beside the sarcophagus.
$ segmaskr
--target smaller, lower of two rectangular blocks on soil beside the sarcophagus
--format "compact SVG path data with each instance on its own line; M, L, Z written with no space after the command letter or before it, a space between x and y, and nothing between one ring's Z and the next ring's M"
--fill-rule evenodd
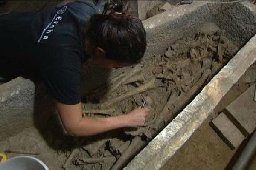
M221 113L217 118L213 119L210 125L232 150L239 147L245 138L224 113Z

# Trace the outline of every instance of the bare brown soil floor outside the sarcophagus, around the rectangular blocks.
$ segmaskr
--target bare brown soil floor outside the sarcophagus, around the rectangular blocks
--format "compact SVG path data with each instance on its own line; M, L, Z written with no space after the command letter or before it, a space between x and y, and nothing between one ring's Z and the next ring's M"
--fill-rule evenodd
M215 108L215 113L209 116L192 134L190 139L162 167L162 170L229 170L246 145L245 140L236 150L231 150L217 133L210 127L209 122L218 113L235 100L239 95L256 82L256 63L247 69L239 81L233 85ZM196 155L196 156L195 156ZM256 167L256 156L248 165L248 170Z

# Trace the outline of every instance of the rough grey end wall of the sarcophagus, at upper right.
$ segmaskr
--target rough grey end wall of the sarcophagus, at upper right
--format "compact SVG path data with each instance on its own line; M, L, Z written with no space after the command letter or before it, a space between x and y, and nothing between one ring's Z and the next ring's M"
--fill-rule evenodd
M230 8L231 6L231 8ZM241 2L233 4L208 4L214 22L227 31L227 37L236 45L244 45L256 32L256 6Z

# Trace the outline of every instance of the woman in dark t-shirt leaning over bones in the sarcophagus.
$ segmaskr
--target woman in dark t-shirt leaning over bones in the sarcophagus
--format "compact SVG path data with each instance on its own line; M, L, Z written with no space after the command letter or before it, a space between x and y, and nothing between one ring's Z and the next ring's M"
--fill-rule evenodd
M81 113L81 67L88 58L103 68L122 68L139 63L145 53L145 28L128 13L126 1L109 1L102 14L93 1L0 14L0 29L0 77L39 73L67 133L91 136L144 125L147 108L108 118Z

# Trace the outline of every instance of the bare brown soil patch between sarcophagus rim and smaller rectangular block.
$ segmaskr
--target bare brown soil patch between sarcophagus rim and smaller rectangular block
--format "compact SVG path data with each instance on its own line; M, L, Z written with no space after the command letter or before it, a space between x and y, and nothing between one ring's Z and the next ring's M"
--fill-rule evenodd
M163 166L162 170L224 170L235 153L209 126L207 119Z

